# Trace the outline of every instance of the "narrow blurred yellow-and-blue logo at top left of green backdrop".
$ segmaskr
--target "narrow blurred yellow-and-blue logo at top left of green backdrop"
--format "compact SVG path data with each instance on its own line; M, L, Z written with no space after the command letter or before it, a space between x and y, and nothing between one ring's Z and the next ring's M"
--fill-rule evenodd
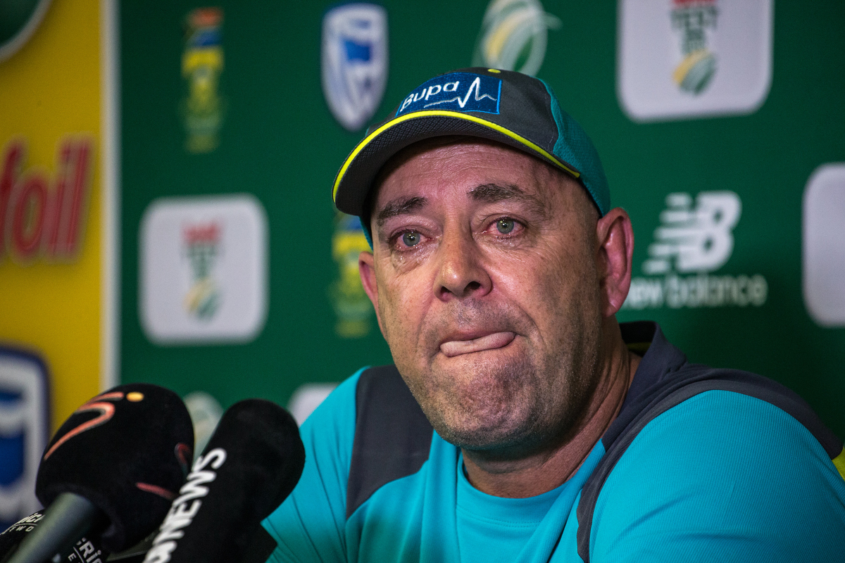
M182 77L188 92L182 102L185 148L209 153L220 143L226 100L220 94L223 72L221 8L196 8L185 18Z

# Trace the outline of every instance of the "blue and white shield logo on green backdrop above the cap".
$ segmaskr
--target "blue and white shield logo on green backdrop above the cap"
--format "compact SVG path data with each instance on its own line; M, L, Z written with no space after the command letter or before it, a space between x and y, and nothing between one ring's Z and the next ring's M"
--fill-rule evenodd
M323 18L323 93L331 114L357 131L379 109L387 85L387 12L350 3Z

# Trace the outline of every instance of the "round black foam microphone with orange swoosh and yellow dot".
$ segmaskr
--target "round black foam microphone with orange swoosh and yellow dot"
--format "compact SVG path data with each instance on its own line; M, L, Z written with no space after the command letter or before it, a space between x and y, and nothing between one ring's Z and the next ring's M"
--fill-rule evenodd
M164 387L131 383L91 398L47 444L35 479L47 509L8 562L59 561L84 535L106 552L137 544L170 508L193 444L188 410Z

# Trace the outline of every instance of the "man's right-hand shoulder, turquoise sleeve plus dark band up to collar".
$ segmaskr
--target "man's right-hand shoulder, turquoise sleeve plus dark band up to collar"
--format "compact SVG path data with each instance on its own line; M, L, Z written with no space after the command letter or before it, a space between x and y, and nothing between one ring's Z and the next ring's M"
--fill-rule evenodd
M639 325L653 338L582 490L582 559L613 560L620 537L694 550L705 549L695 538L706 538L707 549L723 544L726 555L735 539L791 555L813 533L841 539L845 481L831 459L842 456L842 441L787 387L691 364L651 327L650 335ZM625 549L650 549L633 544Z

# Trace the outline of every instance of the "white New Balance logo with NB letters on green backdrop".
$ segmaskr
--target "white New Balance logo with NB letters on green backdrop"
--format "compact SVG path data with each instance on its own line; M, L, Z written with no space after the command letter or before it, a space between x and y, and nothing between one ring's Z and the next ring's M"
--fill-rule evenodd
M718 274L733 253L742 203L734 192L670 193L624 309L762 306L766 278Z

